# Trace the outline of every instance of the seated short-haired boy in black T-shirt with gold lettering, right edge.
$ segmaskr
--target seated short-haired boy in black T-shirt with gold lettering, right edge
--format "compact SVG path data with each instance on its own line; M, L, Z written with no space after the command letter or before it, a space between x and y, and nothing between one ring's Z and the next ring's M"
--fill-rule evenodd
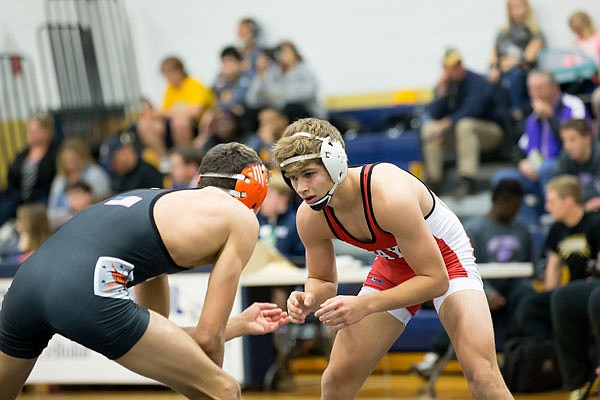
M600 215L583 208L583 192L575 176L560 175L548 182L546 209L555 222L546 238L544 292L526 298L516 312L520 331L539 340L552 338L553 291L565 281L569 286L590 277L590 260L596 257L592 250L600 232ZM563 266L568 277L563 275Z

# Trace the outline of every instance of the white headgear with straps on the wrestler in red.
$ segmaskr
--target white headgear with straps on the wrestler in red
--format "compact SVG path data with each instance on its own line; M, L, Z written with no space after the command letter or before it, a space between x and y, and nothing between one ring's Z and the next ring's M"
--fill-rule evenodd
M321 162L325 166L325 170L329 174L329 177L333 181L333 186L331 189L325 194L325 196L321 197L317 202L313 204L309 204L310 208L315 211L321 211L325 208L325 206L331 200L333 196L333 192L337 185L339 185L346 174L348 173L348 158L346 156L346 151L340 142L332 142L329 136L327 137L314 137L310 133L307 132L297 132L294 133L293 136L303 136L309 139L318 139L321 143L321 150L319 153L313 154L304 154L301 156L295 156L284 160L281 164L279 164L280 168L285 167L286 165L304 161L304 160L312 160L320 158Z

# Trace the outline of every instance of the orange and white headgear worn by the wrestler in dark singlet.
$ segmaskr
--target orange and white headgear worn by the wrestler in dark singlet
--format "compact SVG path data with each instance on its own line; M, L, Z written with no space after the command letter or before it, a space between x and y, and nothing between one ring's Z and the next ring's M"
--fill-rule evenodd
M244 203L254 213L258 213L258 209L267 196L269 187L269 173L263 164L248 165L239 174L219 174L213 172L201 174L198 177L198 182L202 178L236 179L235 188L226 189L225 191Z

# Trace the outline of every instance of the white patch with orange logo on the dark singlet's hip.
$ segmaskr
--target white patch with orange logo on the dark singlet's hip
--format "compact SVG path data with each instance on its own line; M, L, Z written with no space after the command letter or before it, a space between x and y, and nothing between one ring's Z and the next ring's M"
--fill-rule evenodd
M127 283L133 280L134 266L115 257L100 257L94 270L94 294L129 299Z

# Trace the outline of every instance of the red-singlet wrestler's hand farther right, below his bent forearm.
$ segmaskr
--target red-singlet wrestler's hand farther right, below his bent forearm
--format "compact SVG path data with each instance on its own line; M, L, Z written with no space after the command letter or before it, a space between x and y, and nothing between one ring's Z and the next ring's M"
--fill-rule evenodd
M365 304L367 298L368 296L332 297L321 304L315 317L336 331L343 329L369 315L370 311Z

